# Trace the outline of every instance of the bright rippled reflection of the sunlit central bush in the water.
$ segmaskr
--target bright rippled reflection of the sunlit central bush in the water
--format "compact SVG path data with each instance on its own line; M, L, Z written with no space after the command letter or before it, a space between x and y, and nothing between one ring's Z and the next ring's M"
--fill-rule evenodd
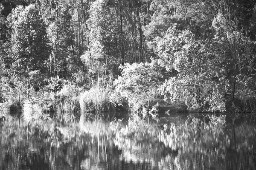
M129 119L125 125L122 120L115 119L111 122L110 129L115 135L114 144L122 150L120 159L156 166L157 160L151 159L151 156L155 158L160 156L157 153L165 153L163 145L158 142L160 129L152 123L134 118Z

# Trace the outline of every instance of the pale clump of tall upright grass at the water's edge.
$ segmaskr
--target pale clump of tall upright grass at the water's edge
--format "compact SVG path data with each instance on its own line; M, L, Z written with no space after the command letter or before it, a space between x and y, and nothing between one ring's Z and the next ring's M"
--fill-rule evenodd
M79 96L79 104L82 113L86 112L109 112L113 109L108 97L108 91L91 88Z

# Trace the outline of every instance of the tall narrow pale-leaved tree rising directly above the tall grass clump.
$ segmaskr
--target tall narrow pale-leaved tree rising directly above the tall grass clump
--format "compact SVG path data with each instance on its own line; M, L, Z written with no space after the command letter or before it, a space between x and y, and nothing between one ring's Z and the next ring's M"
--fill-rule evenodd
M106 71L115 69L119 63L118 28L116 26L113 8L107 0L97 0L92 3L90 17L87 20L88 46L81 56L90 77L97 77L98 87L105 84ZM116 67L117 68L117 67Z

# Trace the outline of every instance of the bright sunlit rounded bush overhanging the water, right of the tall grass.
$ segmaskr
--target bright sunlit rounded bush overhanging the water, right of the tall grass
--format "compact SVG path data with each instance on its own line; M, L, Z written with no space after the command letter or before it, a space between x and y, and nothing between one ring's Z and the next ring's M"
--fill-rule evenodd
M164 79L162 68L154 60L151 63L126 63L119 67L122 77L113 83L111 102L123 105L125 102L132 112L155 105L160 98L158 85Z

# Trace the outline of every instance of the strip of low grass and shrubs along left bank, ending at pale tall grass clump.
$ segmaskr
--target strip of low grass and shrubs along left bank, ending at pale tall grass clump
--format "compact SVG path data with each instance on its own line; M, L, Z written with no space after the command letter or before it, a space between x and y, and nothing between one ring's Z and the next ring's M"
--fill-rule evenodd
M0 109L27 120L48 117L70 122L79 120L81 113L88 113L91 118L102 115L103 112L114 111L108 97L110 90L106 89L92 87L87 90L60 79L52 80L52 83L39 90L19 88L15 87L4 93L5 100Z

